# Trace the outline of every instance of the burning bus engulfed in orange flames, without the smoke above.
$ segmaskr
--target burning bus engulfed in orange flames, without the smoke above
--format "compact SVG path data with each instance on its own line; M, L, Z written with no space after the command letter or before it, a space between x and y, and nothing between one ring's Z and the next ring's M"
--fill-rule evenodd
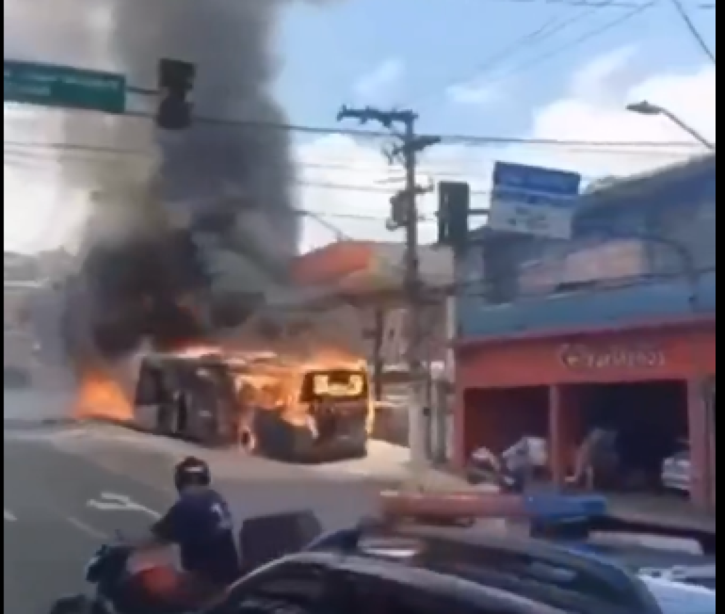
M288 462L362 457L375 404L363 360L176 352L141 360L132 420Z

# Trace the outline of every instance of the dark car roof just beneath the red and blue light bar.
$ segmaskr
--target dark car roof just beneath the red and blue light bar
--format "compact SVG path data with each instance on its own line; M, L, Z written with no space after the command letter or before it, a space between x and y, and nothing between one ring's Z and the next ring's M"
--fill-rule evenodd
M536 539L413 525L397 526L392 534L366 536L352 549L336 549L334 537L340 534L330 534L332 539L323 538L315 548L328 549L337 561L361 559L374 561L373 567L385 565L386 573L397 581L410 577L410 569L424 568L438 574L444 586L466 581L496 587L566 611L629 612L635 604L638 614L657 611L653 596L622 565ZM421 546L418 552L416 544Z

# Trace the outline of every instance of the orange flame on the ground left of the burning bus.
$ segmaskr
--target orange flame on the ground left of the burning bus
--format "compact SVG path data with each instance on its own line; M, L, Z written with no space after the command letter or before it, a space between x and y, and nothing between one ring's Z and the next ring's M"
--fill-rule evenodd
M80 378L73 416L129 422L133 420L133 405L120 381L102 370L93 370Z

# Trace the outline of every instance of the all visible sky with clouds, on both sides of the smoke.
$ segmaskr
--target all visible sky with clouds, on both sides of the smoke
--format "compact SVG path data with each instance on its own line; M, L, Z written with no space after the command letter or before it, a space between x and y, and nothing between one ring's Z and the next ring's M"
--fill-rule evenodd
M714 52L716 0L683 1ZM286 10L277 36L276 92L292 124L358 128L336 123L341 104L371 104L414 109L422 133L594 143L457 139L426 152L421 183L469 181L477 207L486 206L497 160L576 170L588 182L702 151L666 118L627 112L630 102L666 107L715 140L715 66L672 0L300 3ZM602 145L621 141L642 145ZM388 145L338 135L295 138L297 206L307 212L303 250L340 238L400 238L385 224L402 176L381 153ZM80 228L83 191L61 194L52 181L33 181L7 165L4 184L6 248L47 249ZM435 236L434 208L426 196L424 241Z

